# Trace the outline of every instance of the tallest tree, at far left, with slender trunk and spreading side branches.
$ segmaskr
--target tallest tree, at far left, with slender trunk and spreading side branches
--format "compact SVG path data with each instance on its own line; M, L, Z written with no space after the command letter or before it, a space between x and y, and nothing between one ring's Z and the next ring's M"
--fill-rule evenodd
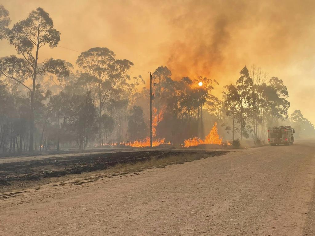
M34 137L34 95L37 76L52 73L58 76L68 76L65 63L60 59L46 59L39 64L40 49L48 45L57 46L60 32L54 28L53 20L42 8L37 8L25 20L20 20L9 31L9 42L20 57L10 56L0 63L0 75L13 79L30 91L30 142L29 151L33 150ZM31 80L31 85L27 82Z

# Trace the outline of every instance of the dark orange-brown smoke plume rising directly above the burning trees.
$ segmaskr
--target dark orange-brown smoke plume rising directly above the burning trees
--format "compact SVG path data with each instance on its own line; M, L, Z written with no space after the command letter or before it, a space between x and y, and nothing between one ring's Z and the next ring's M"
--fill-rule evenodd
M166 63L173 75L176 78L212 76L224 61L223 51L230 40L226 27L225 16L219 16L213 31L190 29L185 40L175 41L169 48Z

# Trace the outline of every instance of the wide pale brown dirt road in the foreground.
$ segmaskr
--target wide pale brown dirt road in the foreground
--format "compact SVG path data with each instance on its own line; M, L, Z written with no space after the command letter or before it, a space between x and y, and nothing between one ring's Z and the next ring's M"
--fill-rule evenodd
M315 142L0 200L0 235L315 235Z

